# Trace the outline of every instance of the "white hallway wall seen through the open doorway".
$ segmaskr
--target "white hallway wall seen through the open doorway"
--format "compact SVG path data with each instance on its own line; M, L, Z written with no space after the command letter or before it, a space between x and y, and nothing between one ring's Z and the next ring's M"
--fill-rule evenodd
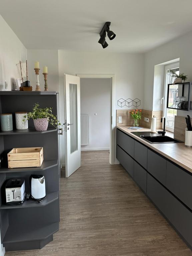
M81 150L107 150L110 143L112 79L81 78L80 84L81 114L89 115L89 145L81 146Z

